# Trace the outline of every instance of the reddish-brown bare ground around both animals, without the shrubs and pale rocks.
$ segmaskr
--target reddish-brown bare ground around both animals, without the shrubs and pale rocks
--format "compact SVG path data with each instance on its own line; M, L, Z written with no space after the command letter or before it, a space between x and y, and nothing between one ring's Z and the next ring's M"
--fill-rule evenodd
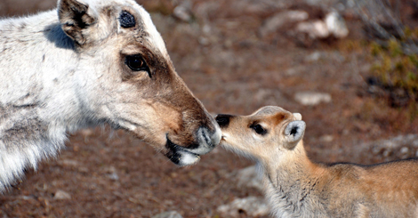
M359 20L350 12L344 14L348 38L301 46L287 30L261 37L263 20L288 8L320 17L321 9L288 1L269 7L251 0L198 0L186 22L172 15L179 1L139 2L152 12L177 72L211 113L250 114L264 105L300 112L307 123L306 149L314 161L372 164L415 156L413 147L402 155L358 147L418 133L418 116L366 92L373 60L361 49L347 49L350 42L364 39ZM55 5L54 0L5 0L0 16ZM329 93L332 101L303 106L294 94L304 91ZM238 169L251 165L216 148L196 166L178 167L123 131L109 126L83 130L69 135L59 157L28 171L20 184L0 196L0 216L151 217L175 210L184 217L220 217L218 206L262 196L255 189L238 188L234 180Z

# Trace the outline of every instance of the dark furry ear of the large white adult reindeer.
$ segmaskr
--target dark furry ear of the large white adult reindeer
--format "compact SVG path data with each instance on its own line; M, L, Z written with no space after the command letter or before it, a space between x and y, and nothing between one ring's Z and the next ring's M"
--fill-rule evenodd
M85 44L84 29L95 21L92 14L89 14L89 5L79 0L60 0L58 5L61 28L76 44Z

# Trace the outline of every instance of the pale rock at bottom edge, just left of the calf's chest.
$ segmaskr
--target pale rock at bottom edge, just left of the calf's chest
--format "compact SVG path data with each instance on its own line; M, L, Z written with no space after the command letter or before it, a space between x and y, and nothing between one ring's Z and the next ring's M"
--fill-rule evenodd
M242 214L256 217L268 215L269 206L263 198L237 198L228 205L219 206L216 211L220 213L221 217L241 217Z

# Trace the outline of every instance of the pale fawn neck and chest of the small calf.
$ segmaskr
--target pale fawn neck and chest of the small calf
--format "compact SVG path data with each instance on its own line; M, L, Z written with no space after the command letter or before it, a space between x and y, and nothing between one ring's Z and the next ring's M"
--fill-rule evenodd
M262 163L266 195L278 216L303 214L310 204L318 200L312 192L321 186L319 178L325 169L312 163L306 156L303 142L280 157Z

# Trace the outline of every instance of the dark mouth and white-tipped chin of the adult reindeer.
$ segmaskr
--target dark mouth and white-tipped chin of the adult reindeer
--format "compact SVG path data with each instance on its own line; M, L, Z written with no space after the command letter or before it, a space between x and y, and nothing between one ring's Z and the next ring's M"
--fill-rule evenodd
M200 160L200 155L175 144L168 138L168 136L166 138L167 142L165 147L168 149L168 152L165 156L168 157L174 164L178 166L189 166L196 164Z

